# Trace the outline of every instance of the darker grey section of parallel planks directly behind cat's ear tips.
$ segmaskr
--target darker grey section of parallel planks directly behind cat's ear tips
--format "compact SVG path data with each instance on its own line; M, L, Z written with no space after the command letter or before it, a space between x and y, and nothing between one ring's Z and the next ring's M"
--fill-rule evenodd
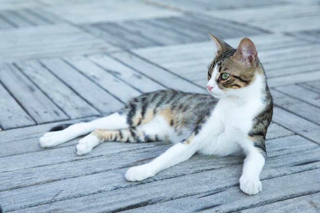
M180 15L155 19L101 22L83 26L124 49L144 48L210 40L208 32L220 38L262 34L264 31L238 26L232 21L205 15Z

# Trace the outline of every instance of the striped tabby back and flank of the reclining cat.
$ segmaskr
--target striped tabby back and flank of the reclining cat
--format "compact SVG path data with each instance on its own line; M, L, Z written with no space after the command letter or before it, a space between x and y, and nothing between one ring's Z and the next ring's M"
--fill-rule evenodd
M141 119L137 124L150 122L155 116L165 118L175 129L193 129L208 115L218 99L209 94L189 93L178 90L157 90L133 98L125 107L129 114Z

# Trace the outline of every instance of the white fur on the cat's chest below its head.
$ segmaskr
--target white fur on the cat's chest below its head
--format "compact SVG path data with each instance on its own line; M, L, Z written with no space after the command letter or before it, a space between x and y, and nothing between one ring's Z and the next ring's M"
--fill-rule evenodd
M261 82L258 81L245 91L246 96L219 100L199 135L200 153L225 156L241 151L240 145L247 139L254 117L263 108Z

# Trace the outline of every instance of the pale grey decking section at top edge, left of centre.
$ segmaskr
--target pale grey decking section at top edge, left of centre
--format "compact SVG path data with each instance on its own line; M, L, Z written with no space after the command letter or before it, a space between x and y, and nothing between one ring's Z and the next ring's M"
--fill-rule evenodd
M94 23L104 21L121 21L131 19L144 19L154 17L168 17L179 15L180 12L163 7L157 7L152 4L146 4L141 1L129 0L125 2L81 2L81 4L72 4L60 1L61 4L52 3L49 10L54 11L66 20L73 23ZM72 7L72 11L70 11ZM120 8L126 8L125 12ZM90 14L84 15L84 14Z

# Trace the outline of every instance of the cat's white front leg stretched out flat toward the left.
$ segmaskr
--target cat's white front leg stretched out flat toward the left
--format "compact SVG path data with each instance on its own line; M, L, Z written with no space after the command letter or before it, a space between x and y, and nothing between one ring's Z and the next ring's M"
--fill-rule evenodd
M178 143L151 162L130 168L125 177L129 181L140 181L153 177L158 172L188 160L197 149L196 143Z

